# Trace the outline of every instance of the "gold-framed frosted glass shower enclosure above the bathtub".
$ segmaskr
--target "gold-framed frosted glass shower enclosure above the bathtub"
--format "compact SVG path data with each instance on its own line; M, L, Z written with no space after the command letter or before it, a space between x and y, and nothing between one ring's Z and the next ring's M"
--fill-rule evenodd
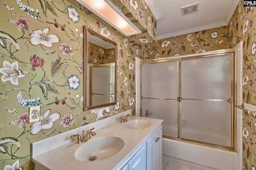
M140 114L163 137L236 151L234 50L140 61Z

